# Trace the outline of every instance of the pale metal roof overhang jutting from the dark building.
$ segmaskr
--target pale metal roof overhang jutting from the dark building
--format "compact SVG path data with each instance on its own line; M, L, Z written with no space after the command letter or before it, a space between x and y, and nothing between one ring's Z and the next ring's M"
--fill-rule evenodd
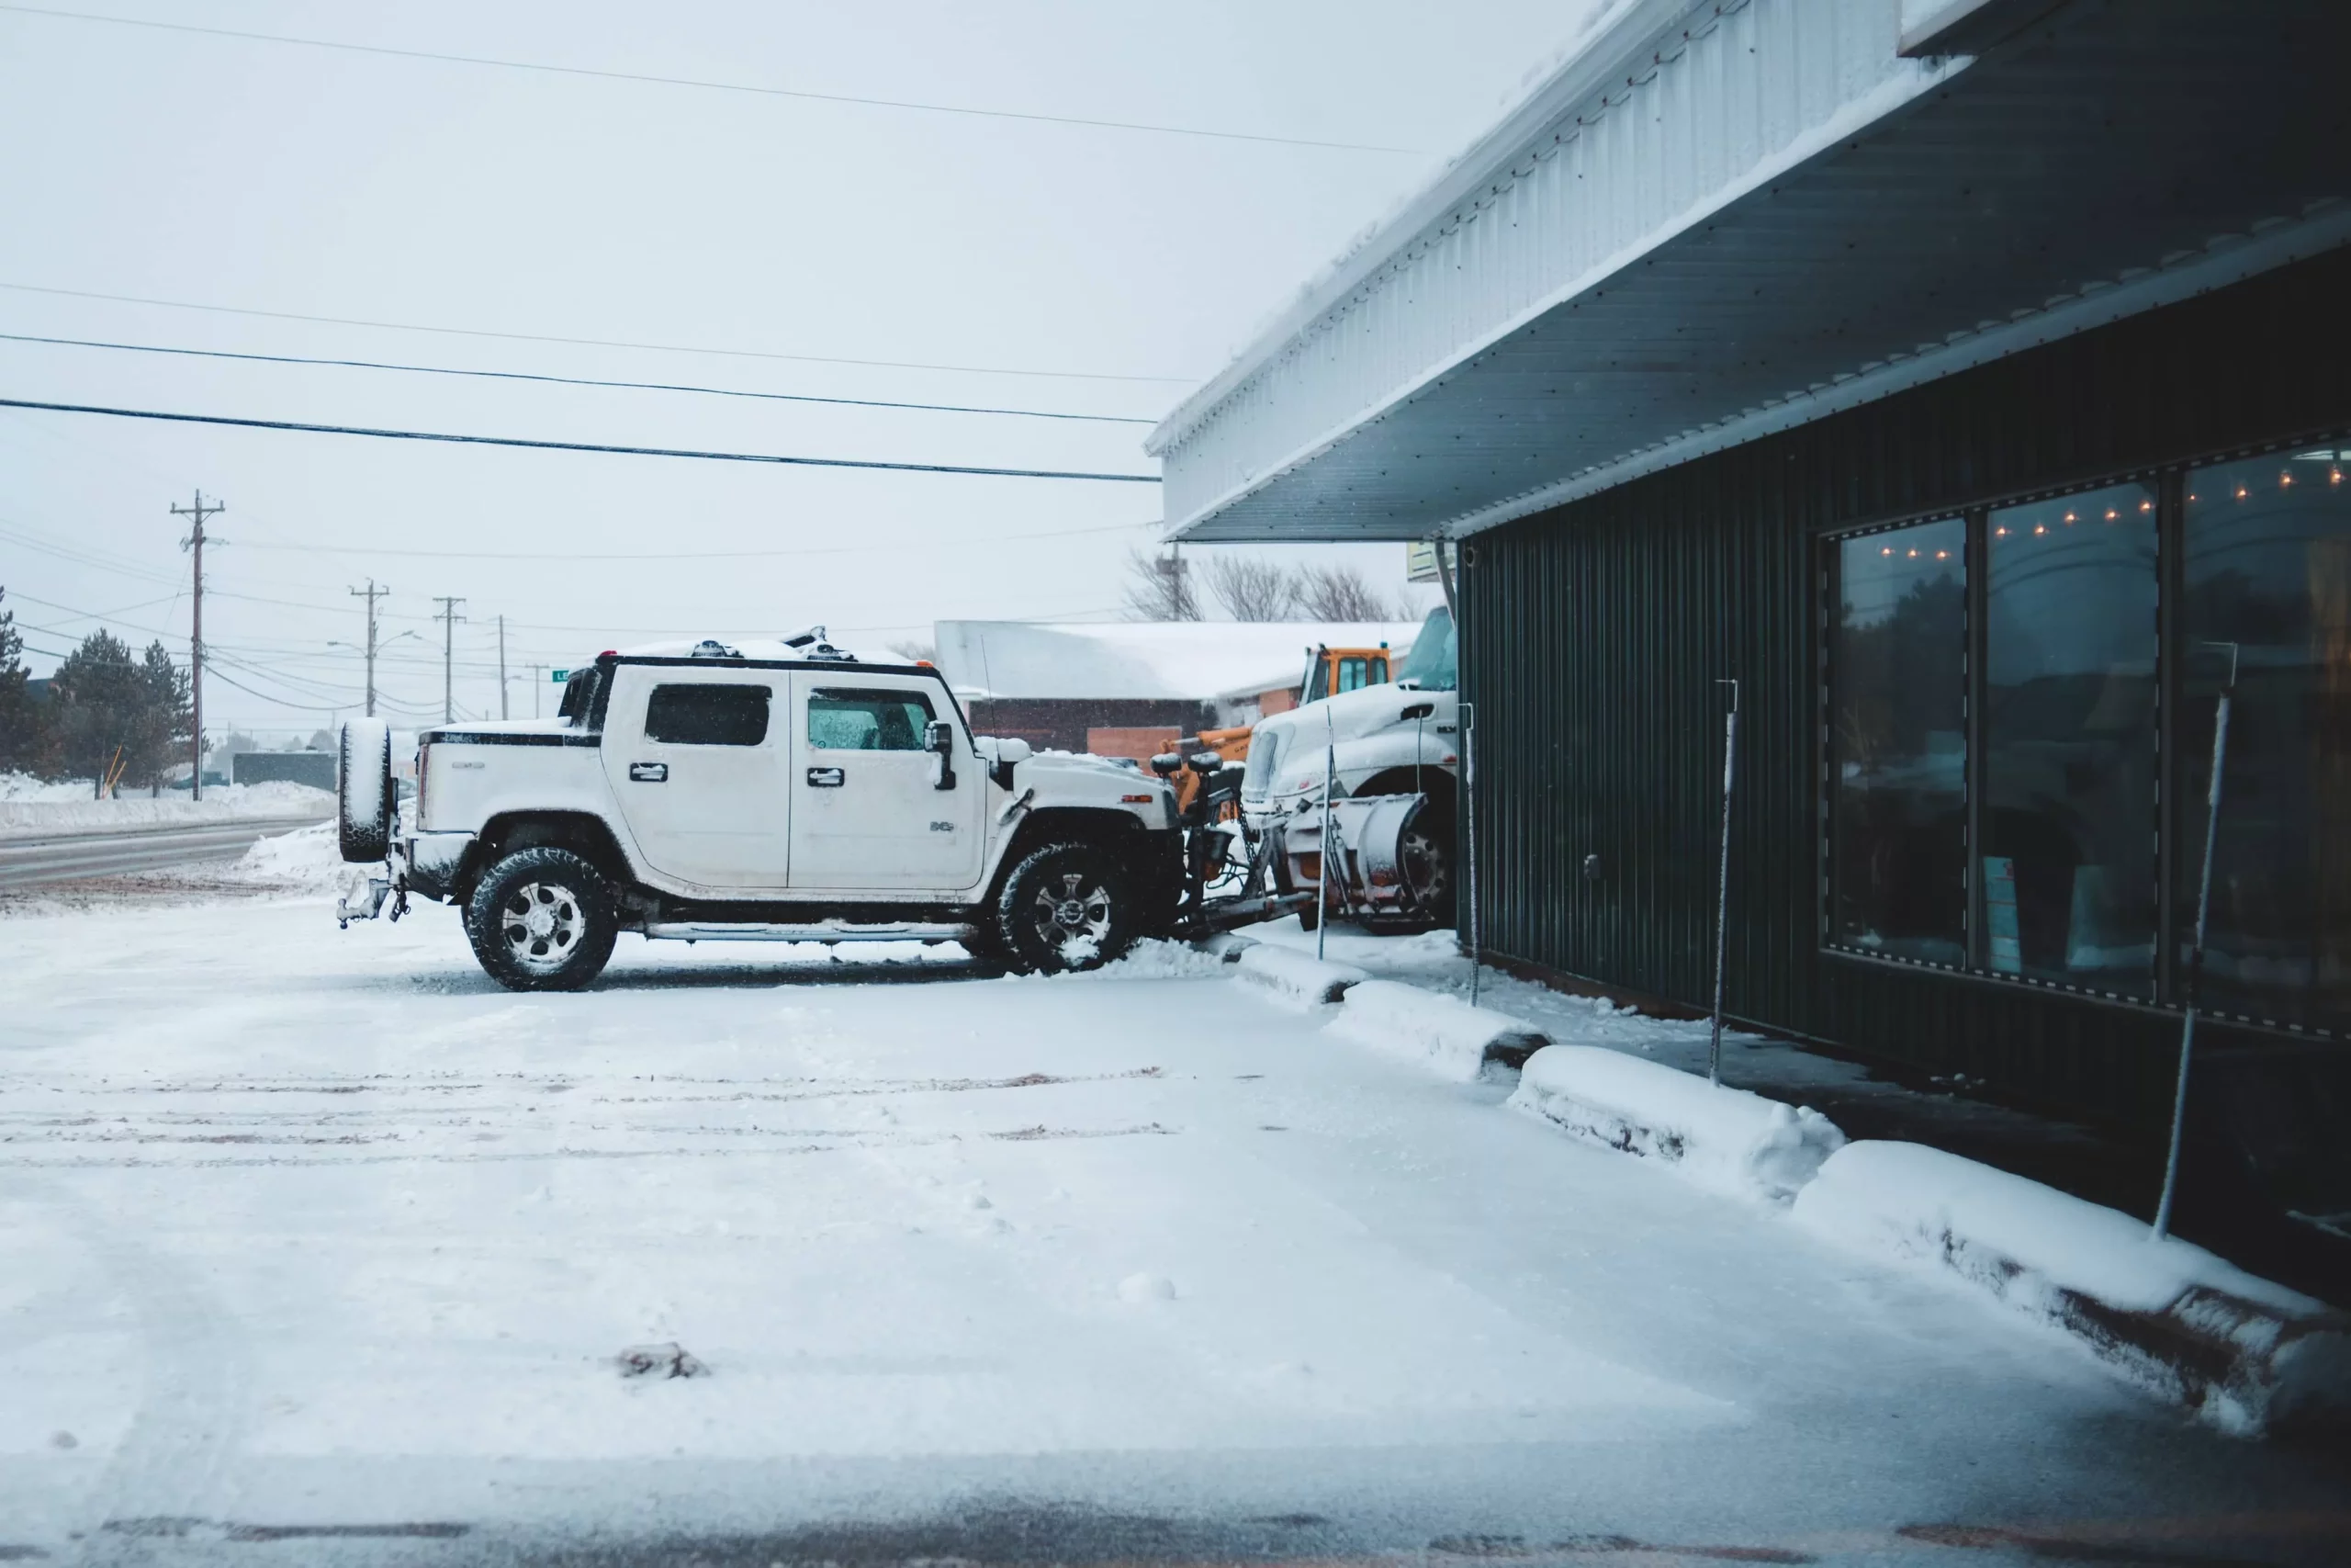
M2337 0L1636 2L1154 433L1171 534L1460 536L2346 244L2346 45Z

